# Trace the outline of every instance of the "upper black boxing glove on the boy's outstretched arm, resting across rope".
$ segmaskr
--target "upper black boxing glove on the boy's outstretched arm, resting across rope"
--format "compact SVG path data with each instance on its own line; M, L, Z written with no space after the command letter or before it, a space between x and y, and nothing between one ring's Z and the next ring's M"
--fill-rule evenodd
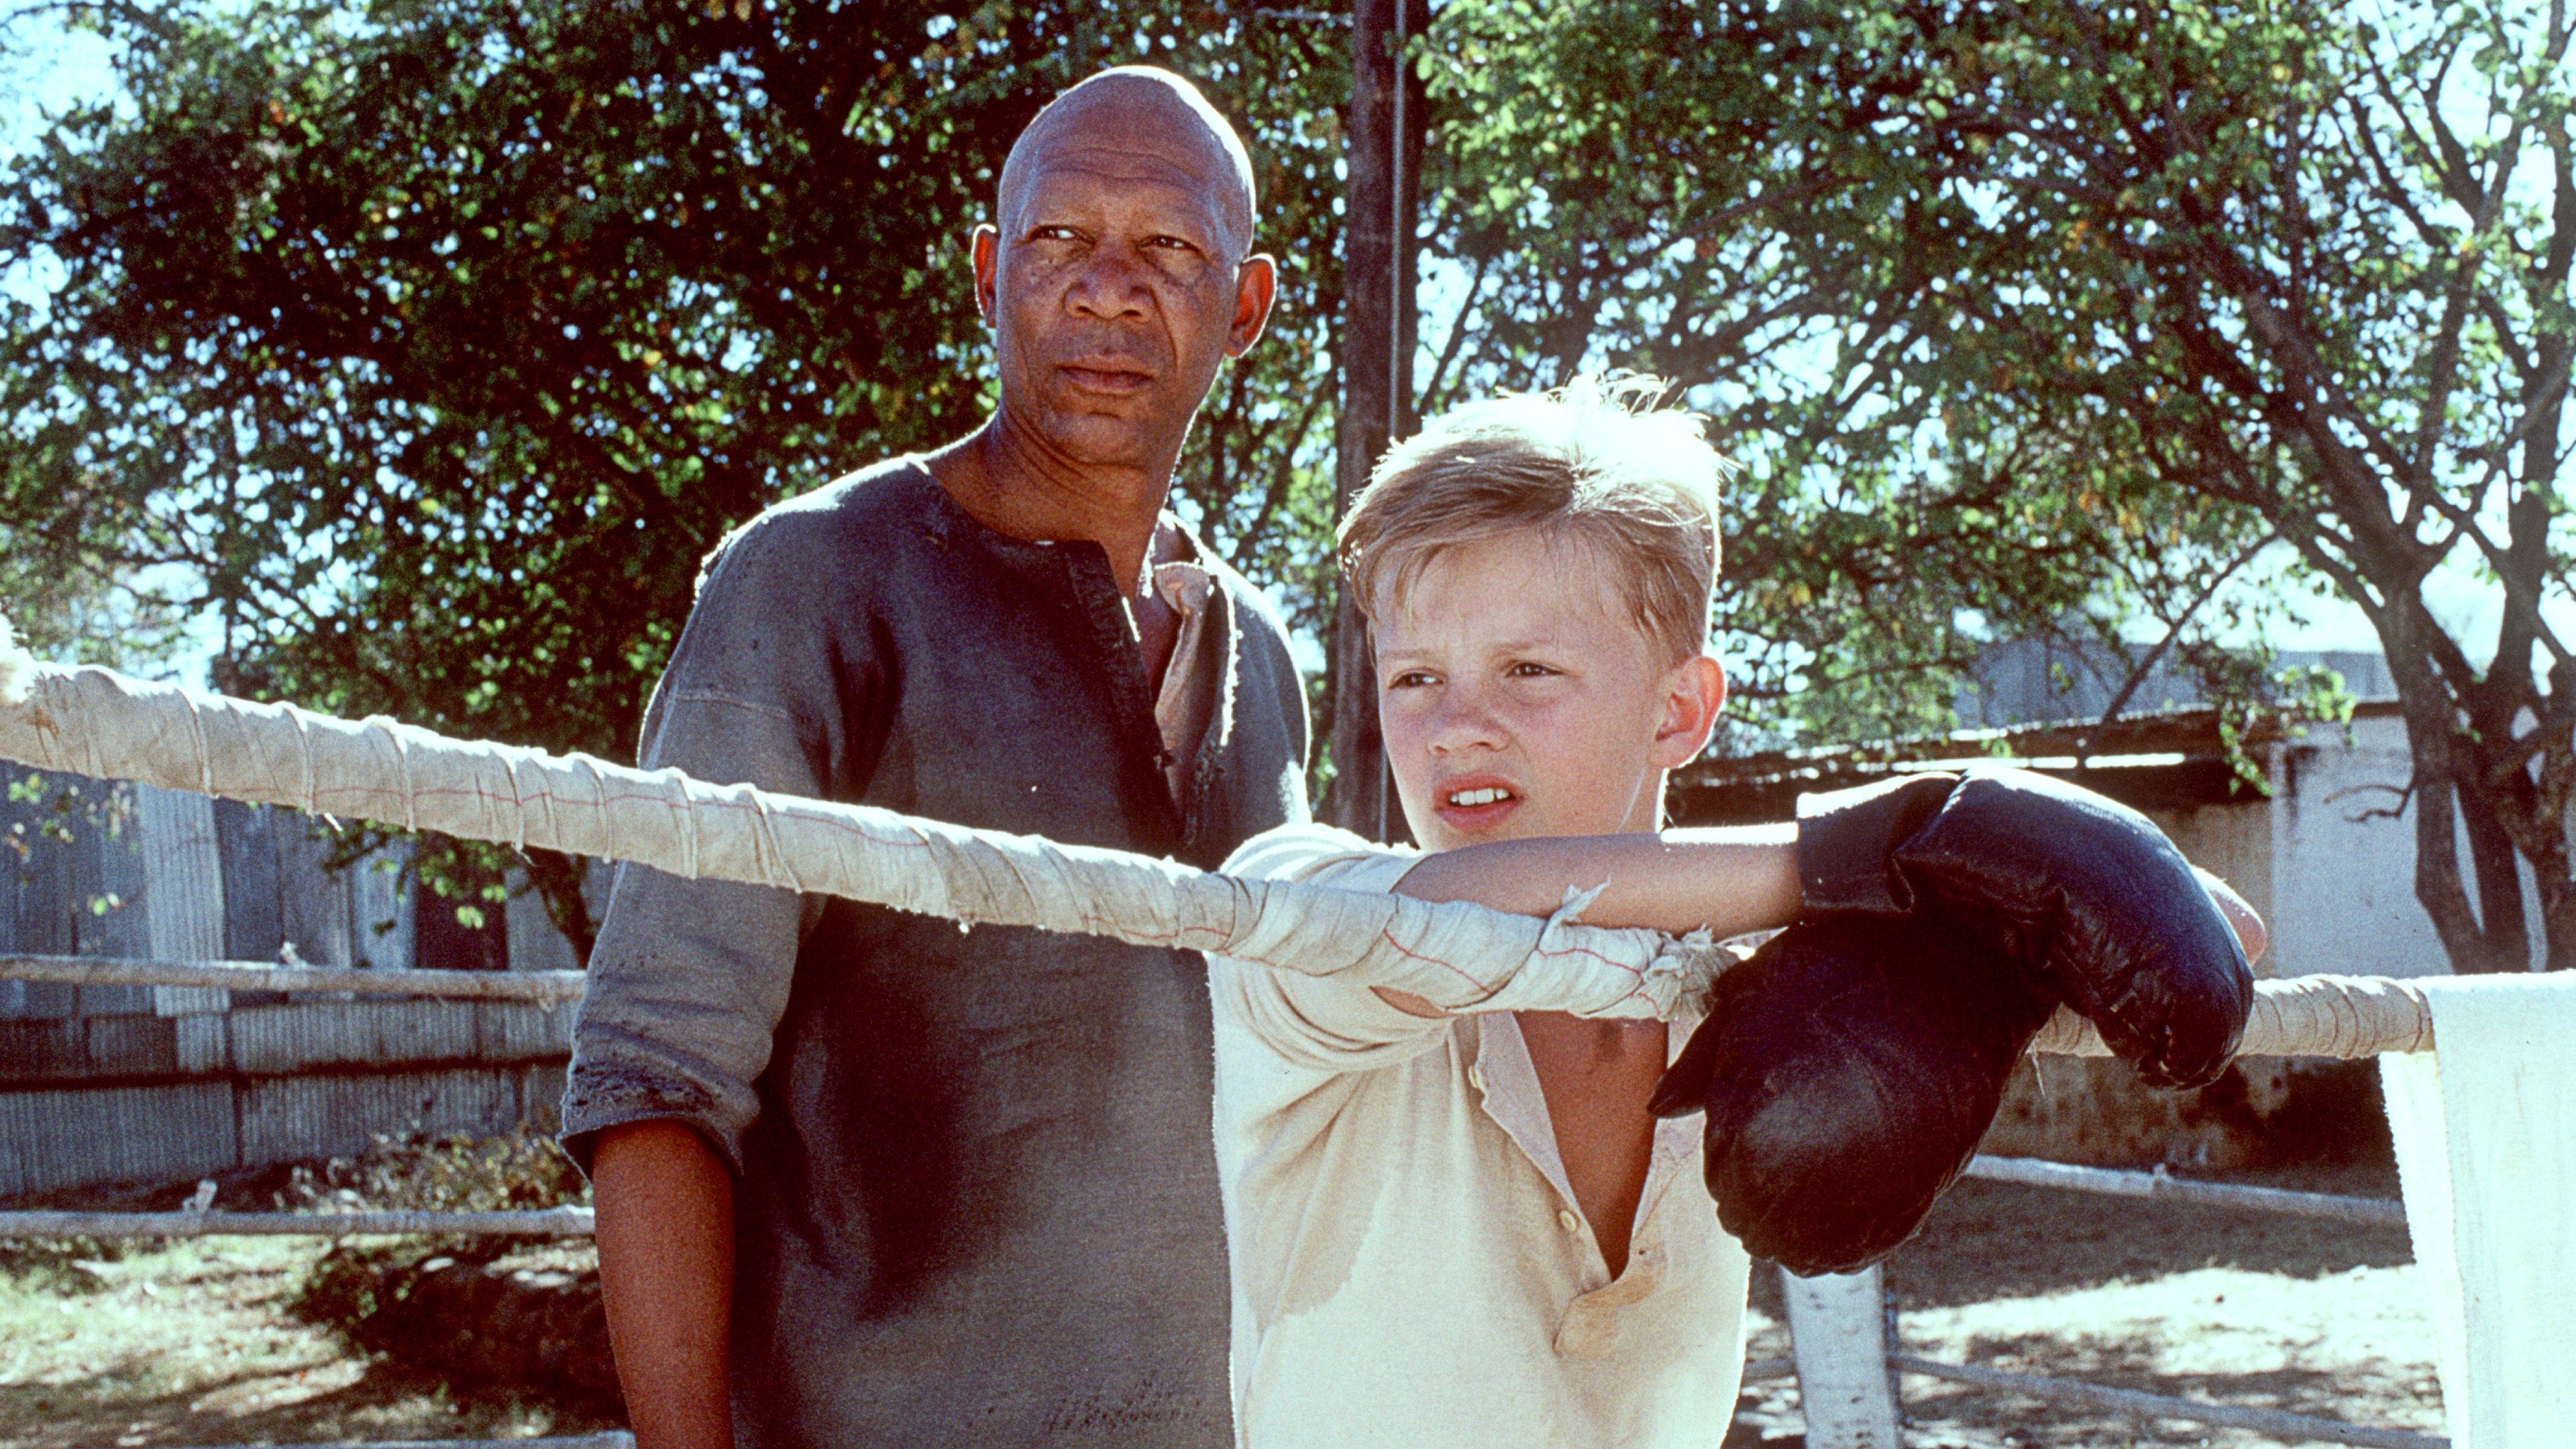
M2254 972L2182 851L2136 810L2032 771L1798 802L1803 920L1937 908L2022 962L2151 1085L2218 1080Z

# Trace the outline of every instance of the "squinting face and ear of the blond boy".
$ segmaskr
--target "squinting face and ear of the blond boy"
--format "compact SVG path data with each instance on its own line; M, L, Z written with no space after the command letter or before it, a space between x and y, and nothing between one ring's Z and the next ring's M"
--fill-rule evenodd
M1672 663L1597 549L1512 534L1437 554L1381 598L1378 722L1425 851L1654 830L1664 771L1726 699L1716 660Z

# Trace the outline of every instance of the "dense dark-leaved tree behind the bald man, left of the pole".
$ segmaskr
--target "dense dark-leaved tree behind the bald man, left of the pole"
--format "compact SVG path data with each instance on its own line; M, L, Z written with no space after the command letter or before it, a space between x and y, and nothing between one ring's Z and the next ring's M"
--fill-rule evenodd
M1097 64L1255 139L1280 325L1185 505L1316 619L1342 41L1182 5L108 5L131 111L0 191L0 518L211 608L216 683L621 758L698 559L987 407L963 237ZM587 946L577 861L531 856ZM425 856L466 900L479 848Z

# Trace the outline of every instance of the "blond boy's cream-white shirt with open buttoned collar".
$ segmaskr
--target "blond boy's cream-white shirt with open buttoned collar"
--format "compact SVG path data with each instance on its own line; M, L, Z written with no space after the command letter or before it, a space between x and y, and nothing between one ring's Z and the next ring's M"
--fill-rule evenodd
M1419 856L1321 825L1226 874L1394 890ZM1234 1436L1270 1449L1716 1446L1744 1369L1744 1248L1662 1122L1613 1279L1510 1011L1211 959ZM1530 1006L1520 1000L1517 1006ZM1669 1052L1690 1036L1674 1021Z

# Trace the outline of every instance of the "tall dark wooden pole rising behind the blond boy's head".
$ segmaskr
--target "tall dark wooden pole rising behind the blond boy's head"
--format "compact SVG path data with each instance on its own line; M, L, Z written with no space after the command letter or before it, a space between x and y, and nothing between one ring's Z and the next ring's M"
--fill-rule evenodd
M1350 191L1342 201L1342 415L1334 490L1342 511L1386 443L1414 431L1414 217L1422 199L1422 85L1396 77L1401 36L1430 21L1422 0L1358 0L1350 26ZM1378 740L1368 624L1350 590L1332 619L1332 766L1324 817L1370 841L1399 841Z

